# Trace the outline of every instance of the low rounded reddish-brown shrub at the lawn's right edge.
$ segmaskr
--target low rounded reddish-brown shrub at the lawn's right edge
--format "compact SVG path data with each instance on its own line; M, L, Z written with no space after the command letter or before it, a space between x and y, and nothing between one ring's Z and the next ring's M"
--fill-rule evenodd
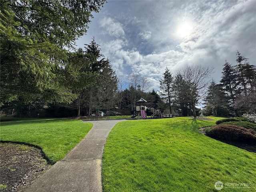
M220 124L206 128L206 135L222 140L256 144L256 131L238 125Z

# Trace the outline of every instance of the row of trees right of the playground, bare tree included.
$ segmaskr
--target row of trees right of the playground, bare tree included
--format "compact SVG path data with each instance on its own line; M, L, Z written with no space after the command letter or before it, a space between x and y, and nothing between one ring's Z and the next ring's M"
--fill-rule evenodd
M220 83L208 80L212 67L188 66L175 76L168 68L160 80L162 98L169 111L182 116L198 114L197 104L204 105L204 115L241 116L256 112L256 66L236 52L236 65L225 61Z

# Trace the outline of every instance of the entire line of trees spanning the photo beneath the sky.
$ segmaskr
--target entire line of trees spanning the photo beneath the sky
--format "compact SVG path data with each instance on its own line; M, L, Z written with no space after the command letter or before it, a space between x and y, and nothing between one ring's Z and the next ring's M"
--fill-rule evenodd
M212 67L191 65L175 76L166 68L157 92L137 73L118 78L94 38L76 50L75 41L86 34L92 12L104 3L0 1L2 112L67 117L109 108L113 114L128 115L140 98L147 106L181 116L196 117L200 102L206 115L255 112L256 68L240 52L235 66L225 62L220 83L208 81Z

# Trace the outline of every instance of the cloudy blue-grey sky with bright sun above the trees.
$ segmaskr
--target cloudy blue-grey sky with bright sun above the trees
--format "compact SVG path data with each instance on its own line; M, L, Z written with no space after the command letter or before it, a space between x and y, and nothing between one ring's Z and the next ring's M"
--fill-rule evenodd
M94 37L124 82L137 73L157 91L166 67L175 76L202 65L214 67L218 83L237 50L256 65L256 0L109 0L93 16L77 48Z

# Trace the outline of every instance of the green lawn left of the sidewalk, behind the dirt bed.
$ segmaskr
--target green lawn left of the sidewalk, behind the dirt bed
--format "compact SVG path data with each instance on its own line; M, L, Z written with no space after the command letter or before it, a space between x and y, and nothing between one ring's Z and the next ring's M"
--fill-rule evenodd
M51 163L62 160L92 128L91 123L66 118L4 120L0 126L1 141L39 146Z

